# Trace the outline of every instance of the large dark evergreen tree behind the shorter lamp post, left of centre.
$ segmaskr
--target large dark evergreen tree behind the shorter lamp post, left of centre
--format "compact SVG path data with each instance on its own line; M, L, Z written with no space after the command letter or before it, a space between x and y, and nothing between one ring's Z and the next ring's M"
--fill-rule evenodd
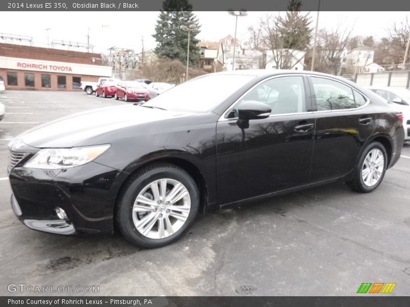
M190 34L189 65L197 66L199 63L199 40L196 35L200 32L198 19L192 12L192 5L188 0L164 0L159 19L155 26L155 34L152 35L158 42L155 48L157 56L166 56L187 62L188 32L180 29L180 26L195 25L196 30Z

